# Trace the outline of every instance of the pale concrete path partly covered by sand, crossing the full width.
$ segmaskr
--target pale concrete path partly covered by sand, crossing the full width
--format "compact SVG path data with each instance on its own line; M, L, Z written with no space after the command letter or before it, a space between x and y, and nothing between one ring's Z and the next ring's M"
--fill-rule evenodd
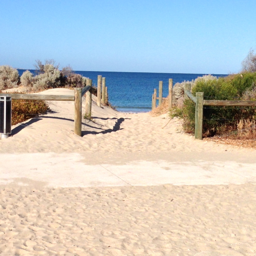
M216 158L90 164L78 153L1 154L0 185L36 187L256 184L256 164Z

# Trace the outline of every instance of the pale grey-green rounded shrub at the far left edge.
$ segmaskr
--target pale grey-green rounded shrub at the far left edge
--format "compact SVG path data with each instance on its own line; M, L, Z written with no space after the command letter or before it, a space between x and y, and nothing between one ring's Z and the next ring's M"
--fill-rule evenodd
M16 88L19 81L18 71L10 66L0 66L0 90Z

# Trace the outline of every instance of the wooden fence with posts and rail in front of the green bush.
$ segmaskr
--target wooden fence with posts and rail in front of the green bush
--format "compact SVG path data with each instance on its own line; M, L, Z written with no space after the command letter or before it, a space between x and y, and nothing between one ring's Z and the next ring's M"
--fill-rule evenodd
M196 103L195 113L195 138L202 140L203 137L203 106L256 106L256 101L244 100L204 100L204 93L191 93L191 84L186 83L184 88L184 99L190 98Z

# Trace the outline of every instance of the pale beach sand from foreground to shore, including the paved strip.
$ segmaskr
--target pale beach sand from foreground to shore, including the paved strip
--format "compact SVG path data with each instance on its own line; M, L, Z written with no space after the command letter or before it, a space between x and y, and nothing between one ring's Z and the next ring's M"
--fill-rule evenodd
M51 101L0 140L0 255L256 255L255 150L93 100L82 137Z

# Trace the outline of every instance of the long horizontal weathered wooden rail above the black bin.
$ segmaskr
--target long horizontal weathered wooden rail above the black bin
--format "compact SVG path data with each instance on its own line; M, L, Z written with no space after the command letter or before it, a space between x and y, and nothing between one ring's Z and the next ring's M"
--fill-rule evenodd
M0 93L0 96L12 97L12 99L27 99L27 100L61 100L74 101L75 96L70 95L42 95L42 94L19 94L19 93Z

